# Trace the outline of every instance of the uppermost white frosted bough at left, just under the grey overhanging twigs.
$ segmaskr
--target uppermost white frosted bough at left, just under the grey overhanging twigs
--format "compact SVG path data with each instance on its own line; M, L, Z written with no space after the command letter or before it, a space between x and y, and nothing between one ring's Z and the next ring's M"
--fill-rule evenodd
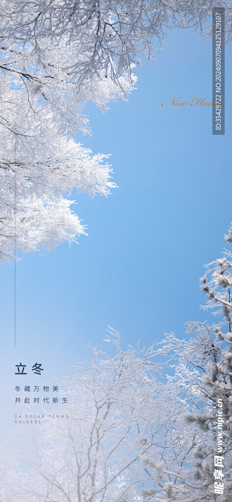
M76 59L78 53L67 48L66 39L58 47L44 48L43 42L39 59L30 44L23 47L13 39L0 45L0 123L22 139L26 134L28 141L54 126L59 134L74 138L76 132L90 132L83 114L86 103L93 101L105 111L109 101L126 99L135 88L134 74L124 72L114 81L104 70L79 84L71 76Z

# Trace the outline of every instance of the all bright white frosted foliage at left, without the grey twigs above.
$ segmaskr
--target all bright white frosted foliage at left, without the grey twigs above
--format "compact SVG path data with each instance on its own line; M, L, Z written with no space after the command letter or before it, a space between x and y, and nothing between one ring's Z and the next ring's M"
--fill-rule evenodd
M77 143L77 133L90 134L83 108L93 101L105 111L110 100L126 99L136 82L125 72L114 81L101 68L77 85L72 69L83 55L69 46L68 33L55 41L44 32L39 53L36 30L34 41L21 43L14 30L9 36L11 21L20 30L34 8L30 13L30 4L0 6L6 35L0 37L0 262L20 249L51 249L85 233L64 196L74 189L107 196L115 184L109 156L92 155Z

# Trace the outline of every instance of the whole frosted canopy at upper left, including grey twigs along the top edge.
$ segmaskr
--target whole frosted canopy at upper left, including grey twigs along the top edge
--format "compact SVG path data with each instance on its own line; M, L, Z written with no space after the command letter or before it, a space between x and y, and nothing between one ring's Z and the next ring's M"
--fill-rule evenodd
M226 7L229 39L231 2L215 5ZM104 111L126 99L133 68L155 56L165 30L203 32L211 8L211 0L1 1L0 261L84 232L63 196L73 188L107 195L113 186L103 156L76 143L90 131L85 105Z

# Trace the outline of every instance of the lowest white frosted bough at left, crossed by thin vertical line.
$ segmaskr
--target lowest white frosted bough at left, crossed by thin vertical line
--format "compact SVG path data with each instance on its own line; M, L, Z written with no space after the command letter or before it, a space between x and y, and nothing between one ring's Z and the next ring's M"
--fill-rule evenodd
M85 234L85 228L79 218L71 211L72 201L57 199L45 204L44 200L35 199L33 203L26 199L18 206L15 216L4 213L0 218L0 260L2 263L15 257L17 249L24 253L39 250L46 246L50 251L58 244L76 240L76 236Z

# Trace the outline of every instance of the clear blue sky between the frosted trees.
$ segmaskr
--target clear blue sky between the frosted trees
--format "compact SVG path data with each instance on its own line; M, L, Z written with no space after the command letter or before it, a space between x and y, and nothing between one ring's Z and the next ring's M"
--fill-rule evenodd
M119 188L107 199L75 194L88 236L17 264L16 349L14 266L0 269L3 430L11 429L21 360L42 362L49 380L69 373L69 363L88 354L88 342L108 348L108 324L126 348L139 338L159 341L164 332L184 337L186 321L205 320L199 277L219 258L232 220L229 56L224 137L212 136L210 107L161 106L179 96L211 101L211 43L187 30L173 30L157 61L136 68L129 102L111 103L106 114L88 106L93 135L79 141L111 154Z

